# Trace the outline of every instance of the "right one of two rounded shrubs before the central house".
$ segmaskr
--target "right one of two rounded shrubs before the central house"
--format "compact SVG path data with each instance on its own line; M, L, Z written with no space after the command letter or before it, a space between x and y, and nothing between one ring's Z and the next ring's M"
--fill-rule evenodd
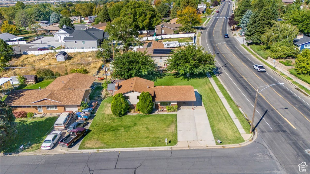
M153 110L154 103L152 102L152 96L148 92L142 92L139 96L139 102L137 108L143 114L149 114Z

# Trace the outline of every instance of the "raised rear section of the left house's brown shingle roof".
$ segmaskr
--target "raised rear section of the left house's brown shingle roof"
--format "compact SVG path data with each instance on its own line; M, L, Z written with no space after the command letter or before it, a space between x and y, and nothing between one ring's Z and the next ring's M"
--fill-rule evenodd
M66 76L60 76L55 79L46 89L88 89L96 77L81 73L73 73Z

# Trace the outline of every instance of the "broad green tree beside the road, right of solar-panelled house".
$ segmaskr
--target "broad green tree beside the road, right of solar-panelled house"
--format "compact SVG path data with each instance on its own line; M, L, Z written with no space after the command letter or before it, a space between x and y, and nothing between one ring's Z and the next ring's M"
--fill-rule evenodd
M169 71L176 71L180 75L187 76L212 72L215 68L214 57L205 53L201 46L195 45L173 50L172 55L167 59L167 64Z

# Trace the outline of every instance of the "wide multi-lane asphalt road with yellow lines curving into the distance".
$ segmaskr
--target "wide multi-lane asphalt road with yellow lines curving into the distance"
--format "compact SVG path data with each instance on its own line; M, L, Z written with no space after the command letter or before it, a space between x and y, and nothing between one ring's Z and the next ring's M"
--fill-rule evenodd
M256 72L254 64L262 64L233 37L228 26L232 6L224 2L204 28L201 45L215 55L218 76L237 104L252 119L256 89L273 85L258 96L255 122L259 143L266 146L288 173L298 173L302 162L310 164L310 98L277 75L270 68ZM230 38L224 38L229 34ZM310 166L310 165L309 165ZM310 172L310 168L308 169Z

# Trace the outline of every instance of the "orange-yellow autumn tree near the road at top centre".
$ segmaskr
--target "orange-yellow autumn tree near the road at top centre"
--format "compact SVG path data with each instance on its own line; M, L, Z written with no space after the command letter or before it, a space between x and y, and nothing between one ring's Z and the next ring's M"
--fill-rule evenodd
M197 14L197 10L195 8L188 6L177 12L177 22L183 26L198 26L201 23L200 16L201 15Z

